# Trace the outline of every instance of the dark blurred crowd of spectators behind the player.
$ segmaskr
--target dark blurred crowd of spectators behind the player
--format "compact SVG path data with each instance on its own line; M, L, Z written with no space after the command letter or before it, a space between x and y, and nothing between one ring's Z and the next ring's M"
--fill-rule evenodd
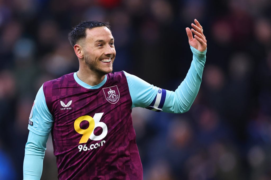
M133 109L144 180L270 180L270 0L0 0L0 179L22 179L42 83L78 70L71 27L109 21L114 71L174 91L191 64L185 28L195 18L207 61L190 110ZM41 179L57 179L50 137Z

